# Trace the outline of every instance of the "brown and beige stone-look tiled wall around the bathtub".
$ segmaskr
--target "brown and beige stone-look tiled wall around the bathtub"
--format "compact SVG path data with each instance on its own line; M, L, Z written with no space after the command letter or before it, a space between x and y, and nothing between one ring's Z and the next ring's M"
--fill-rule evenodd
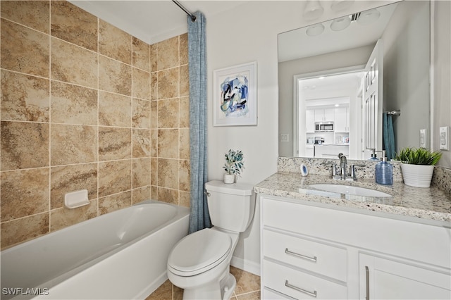
M158 199L189 206L187 35L142 42L67 1L1 1L1 248ZM67 192L90 204L68 209Z

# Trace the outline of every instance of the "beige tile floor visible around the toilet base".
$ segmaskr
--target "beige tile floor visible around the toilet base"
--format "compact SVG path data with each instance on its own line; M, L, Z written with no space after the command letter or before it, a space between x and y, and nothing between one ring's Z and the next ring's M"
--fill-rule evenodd
M230 266L230 273L237 280L237 287L230 300L259 300L260 277L252 273ZM155 292L147 296L146 300L181 300L183 289L175 287L169 280L161 285Z

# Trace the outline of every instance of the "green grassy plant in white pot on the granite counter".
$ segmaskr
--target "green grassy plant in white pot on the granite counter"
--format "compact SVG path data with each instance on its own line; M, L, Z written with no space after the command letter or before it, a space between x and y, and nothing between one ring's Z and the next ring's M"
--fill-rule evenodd
M424 148L404 148L395 156L401 161L402 179L411 187L430 187L434 165L440 161L440 151Z

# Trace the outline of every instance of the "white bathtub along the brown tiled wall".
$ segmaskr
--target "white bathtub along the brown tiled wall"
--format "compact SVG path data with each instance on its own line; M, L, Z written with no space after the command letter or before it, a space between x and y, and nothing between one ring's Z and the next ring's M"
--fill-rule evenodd
M1 251L1 299L145 299L189 213L148 200Z

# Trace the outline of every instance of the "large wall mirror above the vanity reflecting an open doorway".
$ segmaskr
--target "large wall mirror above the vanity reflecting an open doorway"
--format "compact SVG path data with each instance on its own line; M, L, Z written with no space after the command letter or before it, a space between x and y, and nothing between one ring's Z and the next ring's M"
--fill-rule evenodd
M279 156L368 159L385 148L383 112L393 113L395 151L430 147L429 1L376 10L370 24L361 11L278 35ZM367 82L377 75L371 103Z

